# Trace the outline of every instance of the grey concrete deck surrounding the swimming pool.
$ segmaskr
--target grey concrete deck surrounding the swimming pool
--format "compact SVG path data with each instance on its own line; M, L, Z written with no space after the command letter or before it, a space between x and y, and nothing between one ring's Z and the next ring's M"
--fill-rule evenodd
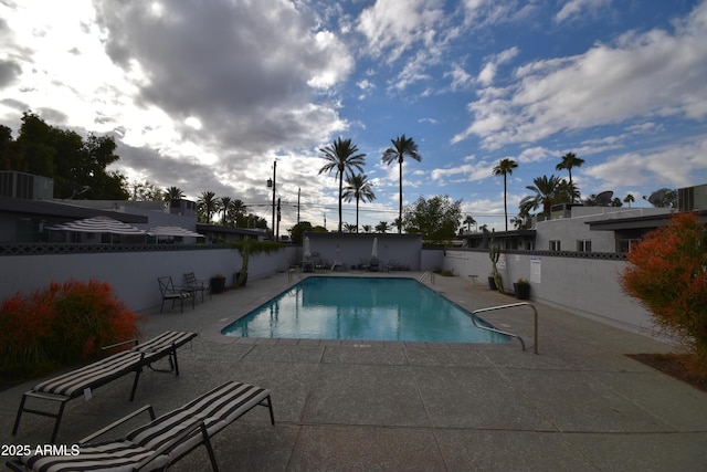
M416 273L395 273L419 276ZM71 401L59 444L72 444L144 405L161 415L229 379L270 388L276 426L256 408L213 438L223 471L705 470L707 394L625 354L667 353L656 339L542 304L539 354L528 307L483 317L528 344L425 344L231 338L220 329L285 290L287 273L147 315L145 337L193 331L181 376L145 373ZM295 276L296 279L296 276ZM516 302L462 277L431 285L473 311ZM157 287L156 287L157 290ZM24 416L36 381L0 392L2 444L44 444L52 421ZM130 423L130 429L144 418ZM7 458L3 458L7 459ZM208 469L203 448L171 470Z

